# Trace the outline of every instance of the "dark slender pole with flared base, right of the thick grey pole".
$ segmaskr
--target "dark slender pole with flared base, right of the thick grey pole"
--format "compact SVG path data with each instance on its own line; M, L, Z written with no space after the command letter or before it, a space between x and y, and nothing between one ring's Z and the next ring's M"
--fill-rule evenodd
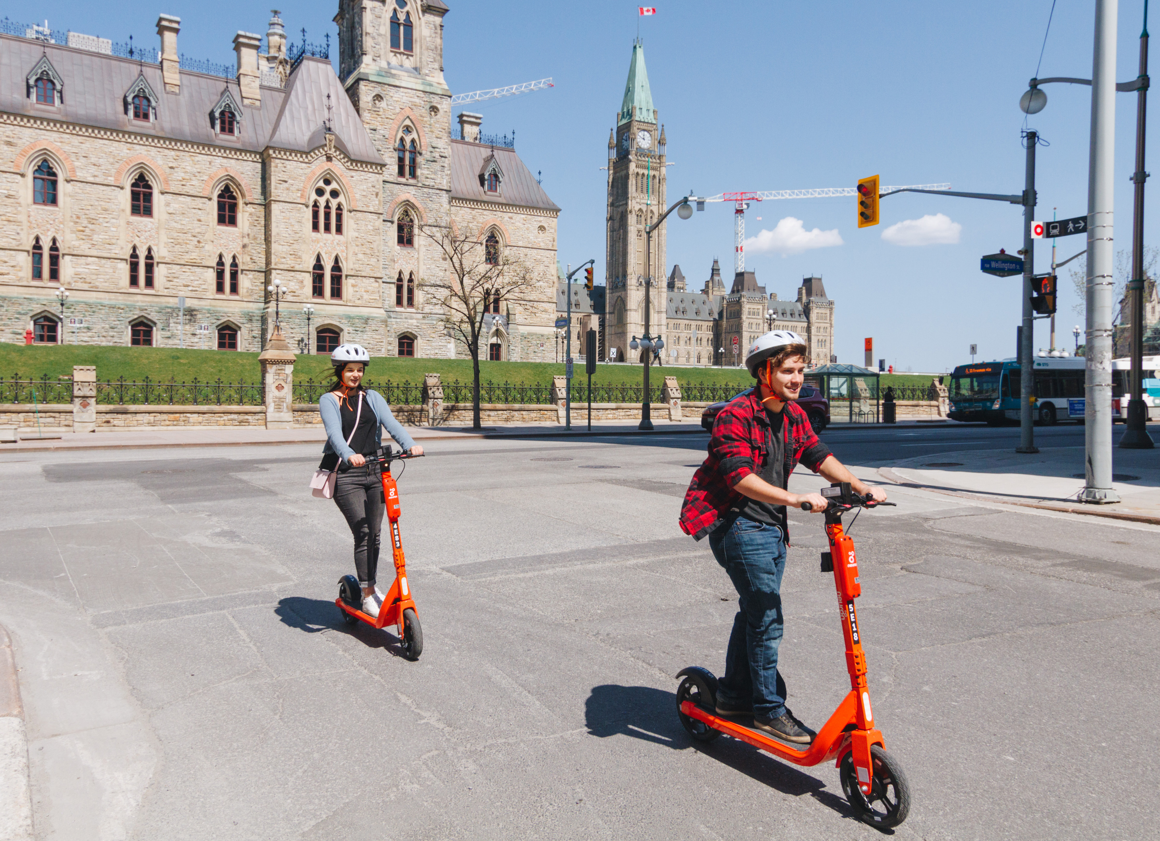
M1144 30L1140 32L1140 74L1143 84L1136 94L1136 195L1132 202L1132 280L1128 282L1132 369L1129 372L1128 429L1119 445L1128 450L1151 450L1155 444L1148 435L1148 407L1144 403L1144 126L1148 95L1148 3L1144 0Z

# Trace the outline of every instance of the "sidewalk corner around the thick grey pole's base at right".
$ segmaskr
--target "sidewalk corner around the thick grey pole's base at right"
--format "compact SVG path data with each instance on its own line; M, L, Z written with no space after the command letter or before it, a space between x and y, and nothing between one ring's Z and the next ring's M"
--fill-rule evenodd
M1036 455L1013 450L940 452L882 467L879 474L908 487L954 496L1131 520L1160 525L1160 450L1114 450L1112 488L1121 502L1087 505L1083 448L1058 447Z

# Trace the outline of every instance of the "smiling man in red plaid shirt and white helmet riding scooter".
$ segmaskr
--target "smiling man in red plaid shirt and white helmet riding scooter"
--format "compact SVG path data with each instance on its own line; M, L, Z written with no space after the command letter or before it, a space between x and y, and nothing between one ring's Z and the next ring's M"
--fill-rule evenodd
M752 715L755 730L797 744L809 744L814 731L785 706L785 682L777 670L789 545L785 506L809 502L817 514L827 502L817 493L789 493L789 477L800 462L831 481L850 483L860 494L886 499L834 457L795 404L807 353L802 336L789 331L766 333L753 343L745 364L757 385L717 414L709 457L689 484L680 521L695 539L709 536L713 557L738 593L717 715Z

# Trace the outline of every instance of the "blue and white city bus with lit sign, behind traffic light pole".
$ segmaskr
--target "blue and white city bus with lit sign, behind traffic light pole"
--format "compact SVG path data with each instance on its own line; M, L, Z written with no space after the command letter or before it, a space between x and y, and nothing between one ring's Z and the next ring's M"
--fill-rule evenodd
M1083 357L1036 356L1031 415L1039 423L1083 422ZM1022 371L1015 360L959 365L951 374L949 418L999 426L1018 421ZM1116 404L1118 406L1118 404ZM1114 406L1114 414L1116 407Z

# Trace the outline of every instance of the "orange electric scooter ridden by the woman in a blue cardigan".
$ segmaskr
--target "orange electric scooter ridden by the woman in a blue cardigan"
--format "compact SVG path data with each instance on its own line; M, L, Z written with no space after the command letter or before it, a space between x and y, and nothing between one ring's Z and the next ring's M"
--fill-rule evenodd
M391 525L391 545L394 550L394 582L383 599L378 618L362 611L362 587L354 575L339 579L339 597L334 603L342 611L342 618L348 625L362 619L371 628L394 625L399 640L403 643L403 655L408 660L418 660L423 653L423 629L419 624L419 610L415 600L411 597L411 586L407 583L407 559L403 554L403 538L399 536L399 486L391 476L391 462L398 462L416 456L392 452L391 448L380 449L375 458L382 465L383 499L386 500L386 519Z

